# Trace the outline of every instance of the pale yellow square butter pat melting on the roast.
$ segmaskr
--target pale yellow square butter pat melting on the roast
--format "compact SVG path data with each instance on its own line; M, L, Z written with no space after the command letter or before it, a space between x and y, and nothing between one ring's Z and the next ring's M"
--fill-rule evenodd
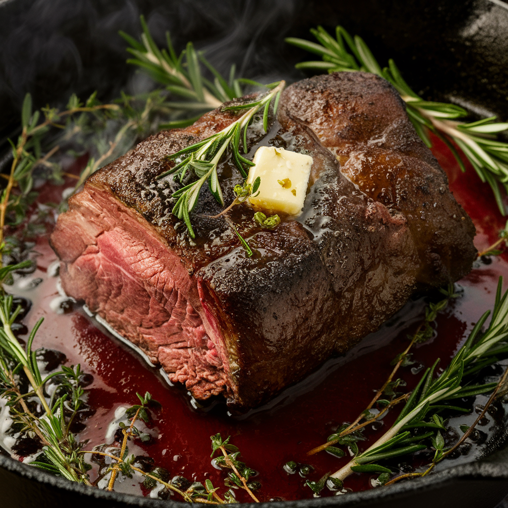
M259 194L249 198L257 209L300 215L307 194L312 157L302 153L262 146L256 151L247 183L261 178Z

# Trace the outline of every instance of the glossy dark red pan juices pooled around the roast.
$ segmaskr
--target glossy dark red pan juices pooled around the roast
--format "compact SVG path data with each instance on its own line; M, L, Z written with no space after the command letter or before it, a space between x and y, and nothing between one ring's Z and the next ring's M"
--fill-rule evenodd
M466 165L466 173L461 173L449 149L436 137L432 137L432 141L432 151L448 174L452 192L477 228L475 246L480 251L484 250L497 240L505 218L499 214L490 187L480 182L473 168ZM83 159L78 160L74 171L79 172L85 163ZM68 181L67 185L70 183ZM41 193L41 202L58 202L65 187L48 185ZM78 439L87 441L84 449L91 450L103 443L118 447L118 440L121 440L118 423L125 421L125 408L138 402L136 392L144 394L148 391L162 403L162 409L153 412L152 423L136 424L140 431L150 436L146 442L139 439L129 442L129 454L137 456L136 460L141 464L138 467L150 470L152 464L161 466L169 471L170 478L181 475L191 482L209 479L220 488L220 492L225 492L226 472L214 467L210 459L210 436L218 432L223 438L231 435L231 442L240 449L240 460L259 472L255 480L262 487L256 495L261 501L310 498L312 491L305 486L307 479L318 480L324 473L339 469L350 459L347 451L346 457L341 459L326 452L310 457L306 453L324 443L342 423L352 422L364 410L392 371L390 362L407 347L407 336L414 333L422 322L426 304L424 298L410 300L379 331L364 338L346 355L331 358L264 407L238 416L231 415L220 400L198 402L182 386L169 386L157 368L149 366L139 354L90 317L78 303L61 294L57 259L48 244L47 235L38 238L35 250L39 253L36 271L17 279L14 286L7 290L32 302L23 320L26 331L41 316L45 318L35 338L34 348L45 347L63 353L65 365L80 363L82 370L90 375L90 384L85 388L86 414L82 415L80 426L76 429ZM412 360L415 363L401 367L397 373L406 383L400 390L408 391L416 386L421 373L437 357L441 359L441 368L448 364L473 324L492 308L500 275L504 277L503 289L506 289L508 257L505 254L485 262L477 261L471 273L457 282L456 288L462 290L462 296L438 314L434 338L414 346ZM34 280L38 282L33 283ZM26 340L26 331L20 329L18 336ZM501 367L493 366L491 369L495 380L502 371ZM447 444L461 436L459 425L470 425L487 399L488 396L478 396L471 414L450 419L447 431L443 432ZM382 421L367 428L365 436L368 439L358 443L360 450L366 449L386 432L401 407L396 406ZM467 440L454 457L444 460L438 468L471 461L493 451L492 443L506 425L506 407L504 403L495 403L486 421L478 427L475 440ZM14 458L29 461L23 454L30 455L32 450L16 447L16 437L8 432L8 418L4 408L0 413L2 447ZM14 452L13 447L18 451ZM406 472L429 463L432 455L427 451L420 452L410 463L407 457L395 458L390 466ZM311 472L305 478L299 473L289 474L283 469L288 461L308 464L314 469L310 468ZM92 462L92 465L90 480L94 482L104 463ZM342 493L373 488L376 477L377 474L354 473L344 482ZM136 473L133 479L117 480L115 490L156 497L157 493L150 493L142 482L143 477ZM98 486L104 488L105 480L101 480ZM330 492L326 488L322 491L323 496L342 493ZM243 490L238 489L235 494L238 501L248 502L250 499ZM172 499L180 500L176 495Z

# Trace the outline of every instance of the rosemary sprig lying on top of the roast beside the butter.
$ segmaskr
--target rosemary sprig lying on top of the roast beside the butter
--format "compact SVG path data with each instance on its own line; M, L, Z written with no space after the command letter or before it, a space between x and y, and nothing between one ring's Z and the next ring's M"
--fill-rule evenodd
M241 106L224 108L225 111L246 111L222 131L169 155L172 159L179 157L181 160L171 170L157 176L157 179L174 174L175 176L179 176L180 181L182 181L187 171L190 171L190 169L193 169L194 173L199 177L198 180L183 186L173 194L173 197L177 198L177 202L172 212L178 218L184 220L192 238L195 238L196 235L190 223L189 214L198 202L201 187L208 182L210 192L215 200L224 206L223 193L217 177L217 165L220 158L229 147L236 167L242 176L247 176L245 167L253 166L253 163L240 154L241 133L243 132L243 151L247 153L246 137L248 126L252 122L254 115L263 108L263 129L265 132L267 131L270 105L273 101L273 110L275 114L278 98L280 97L280 92L284 88L284 85L284 81L280 81L276 83L269 92L259 97L256 101L242 104Z

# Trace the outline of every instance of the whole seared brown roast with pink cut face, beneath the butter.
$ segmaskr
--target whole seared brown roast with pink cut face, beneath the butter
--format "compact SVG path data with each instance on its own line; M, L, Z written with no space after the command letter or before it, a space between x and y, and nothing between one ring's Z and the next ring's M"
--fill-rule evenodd
M240 99L245 103L252 97ZM231 104L235 104L230 103ZM240 113L238 113L240 114ZM303 213L274 230L247 204L230 213L249 258L203 187L196 239L172 215L168 155L224 129L218 108L160 132L92 175L51 235L66 293L83 300L196 399L263 404L375 331L415 291L455 281L476 256L474 227L384 79L361 72L297 82L259 146L313 158ZM218 168L225 202L243 179Z

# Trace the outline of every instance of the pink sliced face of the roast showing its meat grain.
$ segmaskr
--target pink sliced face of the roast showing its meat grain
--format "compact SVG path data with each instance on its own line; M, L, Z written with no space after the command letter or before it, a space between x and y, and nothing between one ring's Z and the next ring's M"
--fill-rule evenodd
M86 185L69 205L52 235L65 292L197 398L227 393L224 339L164 239L106 190Z

